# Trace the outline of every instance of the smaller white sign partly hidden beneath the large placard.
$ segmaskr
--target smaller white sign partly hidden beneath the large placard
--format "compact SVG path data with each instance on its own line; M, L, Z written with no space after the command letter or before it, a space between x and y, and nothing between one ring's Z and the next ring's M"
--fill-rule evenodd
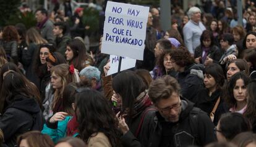
M118 66L119 66L119 56L116 55L110 55L110 68L108 70L108 76L114 73L118 72ZM136 60L129 57L122 57L121 61L121 68L120 71L128 70L130 68L134 68L136 64Z

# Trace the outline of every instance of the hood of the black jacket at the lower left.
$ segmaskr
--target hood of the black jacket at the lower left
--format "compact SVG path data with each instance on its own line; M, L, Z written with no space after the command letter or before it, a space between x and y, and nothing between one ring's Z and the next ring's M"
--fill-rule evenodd
M34 98L28 98L25 95L14 95L14 102L7 106L8 108L16 108L22 111L26 111L30 114L36 114L40 112L40 106Z

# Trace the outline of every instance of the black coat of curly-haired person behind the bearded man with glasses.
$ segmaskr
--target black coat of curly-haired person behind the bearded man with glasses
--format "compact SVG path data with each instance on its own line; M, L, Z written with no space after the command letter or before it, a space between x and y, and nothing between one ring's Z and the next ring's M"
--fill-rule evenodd
M203 65L192 64L186 66L185 71L177 74L177 81L181 85L181 95L196 103L198 90L203 87Z

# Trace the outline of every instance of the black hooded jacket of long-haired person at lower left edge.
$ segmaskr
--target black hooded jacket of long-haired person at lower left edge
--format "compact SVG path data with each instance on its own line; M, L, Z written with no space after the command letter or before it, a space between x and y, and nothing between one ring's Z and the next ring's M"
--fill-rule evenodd
M16 145L17 137L30 130L43 129L43 114L33 98L14 95L14 102L7 105L0 117L0 129L4 133L4 144Z

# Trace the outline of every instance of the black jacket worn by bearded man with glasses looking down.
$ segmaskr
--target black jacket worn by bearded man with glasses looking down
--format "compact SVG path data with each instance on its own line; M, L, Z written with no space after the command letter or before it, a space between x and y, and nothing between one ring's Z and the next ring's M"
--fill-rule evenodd
M204 146L208 143L216 141L215 133L213 132L214 125L202 110L198 111L197 116L197 132L192 132L190 125L190 111L194 109L194 104L188 100L182 100L182 112L179 116L179 121L176 123L166 122L158 111L149 117L148 126L142 129L142 138L140 141L132 138L132 134L127 133L129 140L127 144L132 146L147 146L147 147L183 147L183 146ZM195 135L195 133L197 135ZM196 137L197 136L197 137ZM166 140L164 140L164 137ZM128 138L128 137L127 137Z

